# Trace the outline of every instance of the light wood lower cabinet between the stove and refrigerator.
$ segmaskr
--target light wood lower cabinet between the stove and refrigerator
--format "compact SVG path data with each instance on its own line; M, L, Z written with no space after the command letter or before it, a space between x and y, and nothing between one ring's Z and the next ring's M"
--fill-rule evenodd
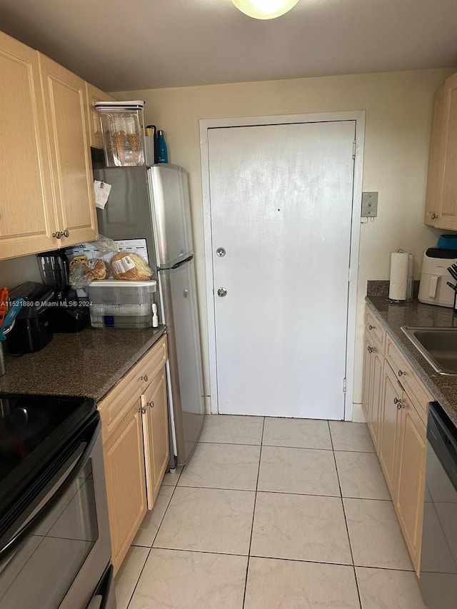
M98 404L115 573L169 462L166 360L164 336Z

